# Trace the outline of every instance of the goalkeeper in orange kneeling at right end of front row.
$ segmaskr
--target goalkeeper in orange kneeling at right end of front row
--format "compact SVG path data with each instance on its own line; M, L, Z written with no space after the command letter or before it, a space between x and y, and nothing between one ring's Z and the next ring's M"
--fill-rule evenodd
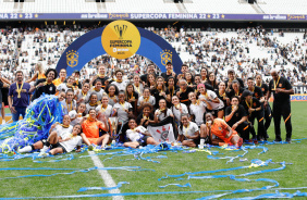
M200 137L206 138L207 136L209 136L211 143L216 146L242 146L243 139L226 124L225 121L223 121L222 118L213 118L211 113L207 113L206 122L206 124L201 124L200 126L200 129L204 128L204 132L201 132L201 134L205 134L200 135Z

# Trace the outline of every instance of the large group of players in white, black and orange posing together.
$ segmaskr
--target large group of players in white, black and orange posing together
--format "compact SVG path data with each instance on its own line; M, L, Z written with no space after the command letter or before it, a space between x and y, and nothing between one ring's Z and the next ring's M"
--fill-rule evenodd
M62 82L57 90L69 114L63 124L51 127L47 140L20 149L20 152L35 149L45 152L50 147L50 153L57 154L70 152L82 142L105 148L111 142L110 116L118 116L120 141L131 148L159 145L146 127L167 117L174 121L175 138L183 146L228 143L240 147L244 141L267 140L272 117L268 104L270 87L262 82L261 75L249 77L245 87L233 70L228 72L226 82L218 83L216 74L208 73L205 67L199 75L194 75L186 65L182 66L180 75L172 68L172 63L168 63L167 72L157 75L154 65L149 65L147 74L136 74L124 80L123 71L116 70L114 77L109 78L106 67L100 65L98 75L83 84L77 73L64 80L65 72L61 70ZM273 84L271 90L277 89L279 83L273 80ZM258 121L257 134L255 118Z

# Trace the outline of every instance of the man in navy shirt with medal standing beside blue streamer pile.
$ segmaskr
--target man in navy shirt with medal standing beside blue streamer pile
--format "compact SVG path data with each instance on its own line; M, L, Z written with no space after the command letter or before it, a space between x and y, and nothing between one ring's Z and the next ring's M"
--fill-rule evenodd
M30 98L30 85L28 83L24 83L23 79L23 71L17 71L16 83L12 84L9 90L9 107L12 112L13 122L19 121L20 115L24 118Z

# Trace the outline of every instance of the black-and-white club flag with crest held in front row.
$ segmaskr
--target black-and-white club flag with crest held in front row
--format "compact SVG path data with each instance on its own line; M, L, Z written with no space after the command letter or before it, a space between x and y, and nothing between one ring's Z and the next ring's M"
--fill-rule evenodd
M159 124L149 124L147 129L149 134L154 137L155 141L158 142L174 142L174 129L172 125L172 117L168 116L165 120L160 122Z

